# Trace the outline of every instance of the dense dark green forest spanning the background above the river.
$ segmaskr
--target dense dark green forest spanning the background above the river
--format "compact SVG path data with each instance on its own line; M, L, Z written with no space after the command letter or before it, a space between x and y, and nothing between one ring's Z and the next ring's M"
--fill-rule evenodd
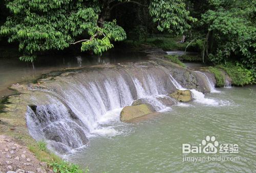
M23 61L77 47L100 55L122 41L199 52L201 61L255 82L253 0L2 0L0 10L1 44L17 45Z

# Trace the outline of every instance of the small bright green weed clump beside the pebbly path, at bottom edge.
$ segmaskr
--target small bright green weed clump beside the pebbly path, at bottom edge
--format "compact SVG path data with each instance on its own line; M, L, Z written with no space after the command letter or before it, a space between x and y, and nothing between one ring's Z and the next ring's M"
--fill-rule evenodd
M49 166L53 169L54 172L60 172L60 173L88 173L89 169L86 168L86 170L81 170L79 167L73 163L69 162L53 162L50 163Z

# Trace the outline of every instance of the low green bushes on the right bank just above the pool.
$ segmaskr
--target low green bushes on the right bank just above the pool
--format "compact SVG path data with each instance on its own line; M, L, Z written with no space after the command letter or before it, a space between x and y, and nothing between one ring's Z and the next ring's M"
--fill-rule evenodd
M225 65L218 65L218 67L222 68L228 73L232 80L232 85L244 86L255 83L252 70L245 68L244 65L238 62L236 64L229 62Z

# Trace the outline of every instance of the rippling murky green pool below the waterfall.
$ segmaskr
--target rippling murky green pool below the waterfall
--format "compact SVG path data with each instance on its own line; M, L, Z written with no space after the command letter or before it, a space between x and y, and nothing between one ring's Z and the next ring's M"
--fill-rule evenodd
M255 172L256 86L221 88L207 94L222 106L189 103L154 119L123 123L125 133L94 137L67 159L90 172ZM129 129L127 131L127 129ZM238 144L237 154L182 154L182 143L198 145L215 136L220 144ZM183 157L222 157L236 161L183 161Z

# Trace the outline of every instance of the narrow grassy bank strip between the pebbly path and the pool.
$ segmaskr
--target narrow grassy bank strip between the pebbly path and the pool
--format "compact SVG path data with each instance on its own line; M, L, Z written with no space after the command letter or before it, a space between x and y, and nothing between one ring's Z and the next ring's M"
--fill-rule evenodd
M36 158L42 162L47 162L48 167L51 168L54 172L60 173L80 173L80 172L89 172L89 169L86 168L82 170L79 166L63 161L60 157L56 156L50 151L47 150L45 141L32 142L28 145L28 149L35 154Z

